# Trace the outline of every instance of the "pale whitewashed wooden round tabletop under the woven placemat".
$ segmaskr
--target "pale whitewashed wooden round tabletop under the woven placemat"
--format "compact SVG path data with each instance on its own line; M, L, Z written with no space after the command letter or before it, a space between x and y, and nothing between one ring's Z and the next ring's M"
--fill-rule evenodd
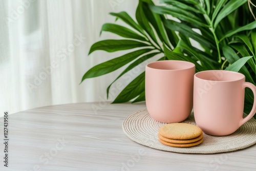
M9 167L3 166L1 143L0 170L256 170L255 145L199 155L164 152L133 142L123 133L122 122L141 109L144 103L97 102L11 114Z

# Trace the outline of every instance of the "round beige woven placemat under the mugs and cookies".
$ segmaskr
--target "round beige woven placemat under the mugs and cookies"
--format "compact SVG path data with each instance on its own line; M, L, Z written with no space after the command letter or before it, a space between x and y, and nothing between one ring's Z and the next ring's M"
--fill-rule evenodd
M183 122L195 125L193 113ZM176 153L223 153L237 151L256 143L256 120L254 118L231 135L218 137L204 134L204 141L201 144L187 148L171 147L159 142L158 130L164 124L154 120L147 110L141 110L129 115L123 121L123 131L130 139L139 144Z

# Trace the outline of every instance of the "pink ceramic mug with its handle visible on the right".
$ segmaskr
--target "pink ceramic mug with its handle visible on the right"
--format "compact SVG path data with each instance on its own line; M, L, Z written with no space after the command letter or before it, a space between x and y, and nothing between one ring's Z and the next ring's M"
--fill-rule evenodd
M254 94L251 113L243 118L245 88ZM195 74L194 114L204 133L224 136L237 131L256 113L256 87L238 72L212 70Z

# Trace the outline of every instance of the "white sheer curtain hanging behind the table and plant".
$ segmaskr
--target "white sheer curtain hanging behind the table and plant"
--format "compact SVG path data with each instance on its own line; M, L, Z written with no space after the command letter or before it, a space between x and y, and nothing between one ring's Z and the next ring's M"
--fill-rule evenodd
M100 101L111 73L88 79L83 74L97 63L117 57L90 46L105 38L109 12L134 17L138 1L128 0L2 0L0 2L0 116L45 105ZM118 54L118 53L115 53ZM111 99L110 99L111 100Z

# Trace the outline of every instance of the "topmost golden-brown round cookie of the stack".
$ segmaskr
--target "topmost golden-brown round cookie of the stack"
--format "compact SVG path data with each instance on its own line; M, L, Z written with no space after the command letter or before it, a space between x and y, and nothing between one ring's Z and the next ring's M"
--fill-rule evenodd
M188 123L169 123L160 127L159 134L173 140L188 140L202 134L200 127Z

